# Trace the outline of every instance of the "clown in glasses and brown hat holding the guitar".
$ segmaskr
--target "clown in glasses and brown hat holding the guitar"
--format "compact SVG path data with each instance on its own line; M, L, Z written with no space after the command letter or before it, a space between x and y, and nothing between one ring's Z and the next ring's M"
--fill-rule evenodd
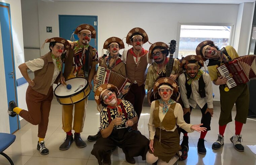
M167 68L169 63L169 46L163 42L156 42L152 44L149 48L149 58L154 59L152 65L148 67L146 82L145 82L145 89L148 91L147 100L148 104L151 104L150 98L152 93L152 88L155 84L156 79L159 77L166 77L167 76ZM171 61L170 61L171 62ZM173 80L182 73L182 69L180 69L180 62L179 60L172 58L172 70L170 72L170 77ZM169 75L168 75L169 76Z

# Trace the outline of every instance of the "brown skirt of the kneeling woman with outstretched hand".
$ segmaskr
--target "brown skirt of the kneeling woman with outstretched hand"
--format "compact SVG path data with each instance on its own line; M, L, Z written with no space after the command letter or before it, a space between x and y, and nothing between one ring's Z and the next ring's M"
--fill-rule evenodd
M155 128L154 136L154 153L149 149L149 153L153 154L158 159L162 161L169 162L173 156L176 154L179 155L180 146L180 136L178 130L175 131L166 131L161 129L161 141L160 139L160 128Z

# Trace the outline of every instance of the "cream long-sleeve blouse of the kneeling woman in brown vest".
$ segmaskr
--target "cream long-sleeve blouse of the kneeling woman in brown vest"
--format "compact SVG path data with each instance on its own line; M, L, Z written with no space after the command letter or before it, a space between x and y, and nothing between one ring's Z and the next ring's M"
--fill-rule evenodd
M168 108L170 108L171 105L168 105ZM150 107L150 117L148 120L148 131L149 131L149 140L154 139L155 136L155 125L153 123L154 120L154 109L155 109L155 101L153 101L151 103L151 107ZM163 114L162 112L163 107L159 106L159 119L160 122L163 121L163 118L166 114ZM174 108L174 116L176 118L176 124L179 125L179 127L181 127L182 129L184 129L187 132L193 132L194 130L191 130L190 127L192 126L192 124L188 124L184 121L183 119L183 110L182 107L179 103L176 103L176 106ZM174 128L172 130L166 130L166 131L175 131L175 129L177 128L177 126L175 125ZM161 128L164 129L164 128ZM165 129L164 129L165 130Z

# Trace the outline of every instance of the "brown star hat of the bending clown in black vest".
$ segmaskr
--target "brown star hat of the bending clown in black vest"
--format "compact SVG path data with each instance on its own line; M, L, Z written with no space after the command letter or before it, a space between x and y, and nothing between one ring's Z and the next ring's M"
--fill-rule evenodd
M196 64L198 65L198 69L204 66L204 60L201 56L196 55L188 55L181 59L180 67L187 69L188 64Z

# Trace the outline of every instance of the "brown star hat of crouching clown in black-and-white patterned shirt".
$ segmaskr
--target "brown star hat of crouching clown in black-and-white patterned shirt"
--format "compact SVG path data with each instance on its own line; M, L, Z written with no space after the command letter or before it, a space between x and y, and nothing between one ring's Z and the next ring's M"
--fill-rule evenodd
M101 104L101 95L106 91L106 90L112 90L115 92L116 96L119 95L119 92L116 88L116 86L112 85L112 84L102 84L100 87L97 88L97 90L95 91L94 94L94 100L96 101L96 103L98 105Z

